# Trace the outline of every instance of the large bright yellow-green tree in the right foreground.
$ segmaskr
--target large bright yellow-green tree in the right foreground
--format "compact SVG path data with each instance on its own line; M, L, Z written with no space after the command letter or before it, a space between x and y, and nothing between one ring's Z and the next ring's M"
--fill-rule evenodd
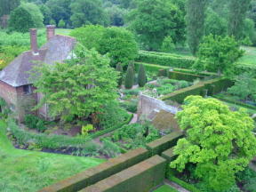
M178 157L171 167L181 172L194 164L194 175L209 191L232 187L236 172L243 171L256 155L252 118L244 111L231 111L220 100L189 96L177 119L186 138L174 148Z

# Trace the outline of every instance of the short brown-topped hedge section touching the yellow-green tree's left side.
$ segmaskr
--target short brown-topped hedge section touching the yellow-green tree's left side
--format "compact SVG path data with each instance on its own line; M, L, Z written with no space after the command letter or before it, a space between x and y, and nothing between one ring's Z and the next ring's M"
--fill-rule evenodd
M175 146L177 141L183 137L184 135L182 132L172 132L158 140L148 143L146 148L148 148L152 156L161 155L164 150Z

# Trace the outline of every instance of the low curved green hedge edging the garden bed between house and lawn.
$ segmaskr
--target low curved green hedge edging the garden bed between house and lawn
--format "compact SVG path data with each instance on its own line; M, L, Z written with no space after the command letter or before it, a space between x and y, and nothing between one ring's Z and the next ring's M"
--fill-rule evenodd
M119 129L124 124L128 124L132 120L133 115L131 115L124 123L118 124L114 127L108 128L106 130L102 130L100 132L95 132L88 137L68 137L65 135L46 135L44 133L35 133L28 132L20 129L20 127L13 121L9 120L8 126L12 132L12 135L16 138L16 140L20 144L27 144L29 140L33 140L33 142L41 148L83 148L86 146L87 142L93 140L101 135L104 135L108 132L113 132L116 129Z

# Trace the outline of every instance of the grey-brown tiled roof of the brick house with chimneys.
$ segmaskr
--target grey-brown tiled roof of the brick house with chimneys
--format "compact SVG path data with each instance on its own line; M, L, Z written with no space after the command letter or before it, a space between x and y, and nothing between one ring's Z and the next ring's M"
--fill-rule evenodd
M54 64L68 59L76 45L76 39L70 36L53 36L35 55L31 51L23 52L0 72L0 81L13 87L32 84L29 73L36 63Z

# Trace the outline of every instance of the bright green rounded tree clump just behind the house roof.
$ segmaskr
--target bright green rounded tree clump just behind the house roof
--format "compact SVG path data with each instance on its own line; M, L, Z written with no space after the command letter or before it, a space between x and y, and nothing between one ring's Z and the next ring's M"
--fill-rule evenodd
M124 28L103 28L102 26L85 26L76 28L71 36L86 48L95 48L101 54L108 54L111 66L116 67L118 62L127 65L137 57L138 47L132 33Z

